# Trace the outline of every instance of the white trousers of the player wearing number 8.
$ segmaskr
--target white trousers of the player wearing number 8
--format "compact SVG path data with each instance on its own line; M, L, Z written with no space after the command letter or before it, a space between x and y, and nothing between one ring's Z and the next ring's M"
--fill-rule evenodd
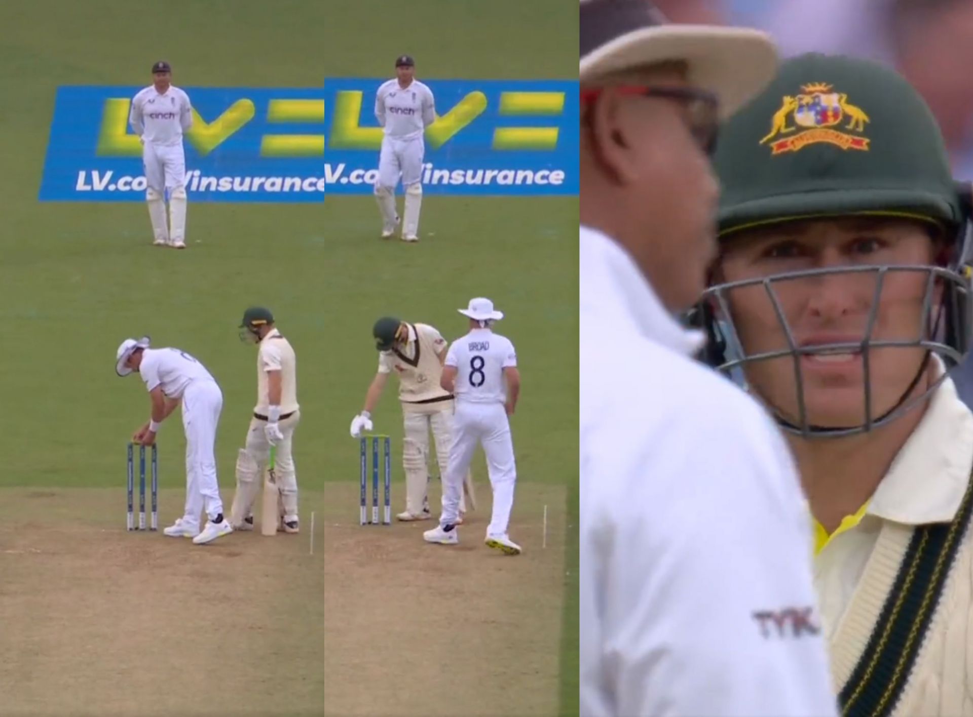
M455 524L459 517L459 498L463 495L463 476L469 470L477 444L484 447L486 472L493 488L493 514L487 535L506 535L510 511L514 507L517 464L510 421L502 403L476 403L456 398L452 416L450 465L443 487L441 526Z

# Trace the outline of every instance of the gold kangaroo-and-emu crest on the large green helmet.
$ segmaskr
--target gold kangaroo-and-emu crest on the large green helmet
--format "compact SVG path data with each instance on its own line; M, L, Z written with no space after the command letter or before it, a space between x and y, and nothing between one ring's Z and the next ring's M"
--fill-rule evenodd
M845 92L834 92L832 85L824 83L801 85L801 89L801 94L784 95L771 119L771 132L760 144L770 143L771 154L798 152L818 142L868 152L870 140L862 134L871 120L848 102Z

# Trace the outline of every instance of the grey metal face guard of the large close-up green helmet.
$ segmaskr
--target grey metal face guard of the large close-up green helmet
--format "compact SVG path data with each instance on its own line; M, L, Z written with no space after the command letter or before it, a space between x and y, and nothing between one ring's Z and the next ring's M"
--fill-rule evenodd
M864 275L875 281L871 307L868 311L861 339L854 342L820 343L800 346L787 322L778 295L781 285L788 282L811 279L823 275ZM915 338L883 339L875 336L879 307L883 288L893 275L922 275L924 291L921 305L920 325ZM761 288L774 308L776 322L784 337L785 345L779 349L750 353L743 346L737 325L734 322L731 297L734 291L746 288ZM940 298L936 299L937 292ZM781 427L789 432L807 438L846 436L863 433L872 428L888 424L928 397L930 393L946 380L947 372L959 363L970 348L970 322L973 318L973 292L966 271L932 265L858 265L839 268L809 269L805 271L775 274L756 279L719 284L703 293L698 312L698 323L706 333L707 345L704 359L707 363L727 374L745 372L748 366L759 361L788 358L793 364L798 420L796 423L785 419L773 405L770 408ZM873 415L871 352L879 348L919 348L926 352L913 383L895 406L881 416ZM834 354L858 353L861 356L864 372L864 421L849 427L811 426L805 400L805 376L801 358ZM919 379L924 374L930 354L938 356L946 370L926 387L919 395L912 395Z

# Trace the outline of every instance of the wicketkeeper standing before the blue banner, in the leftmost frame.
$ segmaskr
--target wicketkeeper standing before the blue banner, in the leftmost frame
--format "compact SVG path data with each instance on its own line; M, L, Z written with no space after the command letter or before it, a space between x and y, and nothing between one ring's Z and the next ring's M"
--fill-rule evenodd
M128 122L142 143L145 200L156 246L186 248L186 155L183 132L193 126L189 95L173 86L169 63L152 66L152 85L139 90L131 101ZM169 192L168 224L165 191Z

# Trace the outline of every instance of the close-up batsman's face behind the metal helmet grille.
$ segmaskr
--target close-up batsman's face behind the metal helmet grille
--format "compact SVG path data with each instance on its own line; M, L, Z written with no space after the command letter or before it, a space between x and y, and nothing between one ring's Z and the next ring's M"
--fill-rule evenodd
M809 269L890 267L934 263L938 244L920 222L839 220L791 222L734 237L717 268L717 282L764 279ZM725 295L746 356L787 351L786 322L798 347L865 340L874 309L870 341L919 341L923 300L929 290L926 270L823 273L779 279ZM930 326L936 324L941 291L933 286ZM877 298L878 296L878 298ZM776 306L775 306L776 301ZM779 311L779 316L778 316ZM926 330L927 338L929 330ZM871 417L892 409L919 374L925 352L919 347L868 350ZM801 425L798 381L804 389L808 422L820 427L850 427L865 422L866 371L860 348L752 361L744 364L747 382L792 424ZM915 391L924 391L919 380Z

